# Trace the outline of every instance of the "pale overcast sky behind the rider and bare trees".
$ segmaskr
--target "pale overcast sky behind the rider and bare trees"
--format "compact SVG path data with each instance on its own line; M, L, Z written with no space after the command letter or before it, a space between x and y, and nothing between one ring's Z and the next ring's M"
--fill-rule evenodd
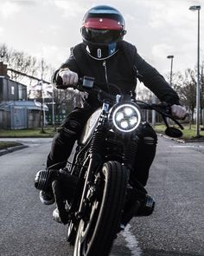
M109 4L124 15L124 40L162 74L194 68L197 62L197 11L203 0L1 0L0 43L43 58L58 68L70 47L81 42L80 26L94 5ZM204 4L201 6L201 60L204 60Z

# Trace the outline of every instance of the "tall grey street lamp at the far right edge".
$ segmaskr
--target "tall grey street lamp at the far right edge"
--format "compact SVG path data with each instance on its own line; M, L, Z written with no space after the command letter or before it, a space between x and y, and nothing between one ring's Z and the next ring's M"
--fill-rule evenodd
M198 11L198 47L197 47L197 87L196 87L196 136L200 137L200 10L201 5L193 5L189 7L189 10Z

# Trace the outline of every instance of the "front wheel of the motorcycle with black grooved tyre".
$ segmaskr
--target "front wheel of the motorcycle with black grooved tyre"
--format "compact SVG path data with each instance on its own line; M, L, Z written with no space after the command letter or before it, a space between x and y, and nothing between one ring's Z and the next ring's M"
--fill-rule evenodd
M124 207L128 170L117 161L108 161L97 177L96 194L80 220L74 256L106 256L118 232ZM86 198L92 193L88 190ZM84 199L86 200L86 199Z

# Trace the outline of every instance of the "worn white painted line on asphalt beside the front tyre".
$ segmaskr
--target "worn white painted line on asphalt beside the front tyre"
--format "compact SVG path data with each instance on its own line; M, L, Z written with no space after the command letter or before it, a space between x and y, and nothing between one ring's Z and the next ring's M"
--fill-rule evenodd
M142 250L138 246L138 242L134 234L130 231L131 225L128 224L124 231L121 233L124 236L124 240L127 242L127 247L131 250L132 256L141 256Z

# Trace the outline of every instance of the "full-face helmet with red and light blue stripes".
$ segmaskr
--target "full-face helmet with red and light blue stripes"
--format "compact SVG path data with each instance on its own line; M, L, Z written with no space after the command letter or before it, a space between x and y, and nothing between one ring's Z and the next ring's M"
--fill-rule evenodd
M81 36L90 56L103 60L117 52L118 42L126 33L124 17L108 5L99 5L86 12Z

